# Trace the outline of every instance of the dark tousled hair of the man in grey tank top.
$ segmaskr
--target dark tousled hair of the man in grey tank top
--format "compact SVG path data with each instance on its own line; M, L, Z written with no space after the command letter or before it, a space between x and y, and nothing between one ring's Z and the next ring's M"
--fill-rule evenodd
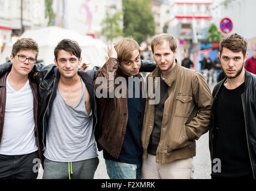
M55 59L58 59L58 53L60 50L67 51L68 53L73 54L77 58L81 57L81 47L80 45L71 39L63 39L61 42L58 43L57 47L54 50Z

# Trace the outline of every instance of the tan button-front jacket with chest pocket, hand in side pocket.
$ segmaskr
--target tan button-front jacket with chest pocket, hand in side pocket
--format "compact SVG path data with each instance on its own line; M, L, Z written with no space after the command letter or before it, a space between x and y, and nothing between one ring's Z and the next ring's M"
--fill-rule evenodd
M150 77L155 81L160 72L156 67L147 76L147 81ZM176 63L164 81L168 85L169 96L164 104L161 137L156 150L158 163L195 156L195 140L209 130L212 107L212 94L201 73ZM153 83L153 90L155 88ZM155 118L155 104L149 104L149 101L147 98L141 134L144 159L147 158Z

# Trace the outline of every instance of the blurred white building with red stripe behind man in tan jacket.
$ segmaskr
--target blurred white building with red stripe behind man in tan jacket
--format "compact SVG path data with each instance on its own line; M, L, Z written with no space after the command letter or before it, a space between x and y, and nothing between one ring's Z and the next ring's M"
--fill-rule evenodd
M192 44L206 40L212 20L210 5L212 0L171 1L168 33L176 36L184 51L188 51Z

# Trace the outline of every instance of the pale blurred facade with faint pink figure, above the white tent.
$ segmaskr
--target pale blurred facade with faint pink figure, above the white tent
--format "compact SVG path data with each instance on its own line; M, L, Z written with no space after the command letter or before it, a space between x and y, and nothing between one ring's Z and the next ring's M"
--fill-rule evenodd
M99 38L106 12L122 11L122 0L53 0L55 25Z

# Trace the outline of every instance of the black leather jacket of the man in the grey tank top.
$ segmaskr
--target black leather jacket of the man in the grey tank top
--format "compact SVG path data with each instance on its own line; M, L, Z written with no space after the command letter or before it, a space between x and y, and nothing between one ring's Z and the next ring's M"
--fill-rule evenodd
M0 75L11 69L11 62L0 64ZM140 72L152 72L156 67L155 61L141 60ZM83 72L79 70L83 82L85 82L86 88L90 94L91 107L94 111L94 134L97 140L98 150L102 150L100 144L98 144L98 138L101 137L101 132L98 131L98 99L95 97L94 79L97 70L100 66L95 66L93 69ZM40 133L41 140L43 140L43 150L46 144L46 132L48 128L48 118L52 110L52 103L56 97L56 88L59 80L58 67L55 64L44 66L43 64L35 64L29 76L32 76L38 84L38 122L39 127L42 130Z

